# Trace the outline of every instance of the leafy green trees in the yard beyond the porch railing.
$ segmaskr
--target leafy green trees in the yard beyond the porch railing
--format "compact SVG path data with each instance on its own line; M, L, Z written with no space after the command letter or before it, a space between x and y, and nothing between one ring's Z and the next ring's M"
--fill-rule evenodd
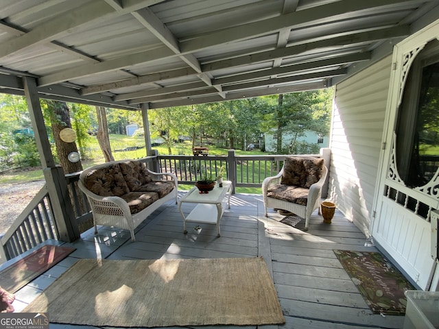
M282 95L283 102L279 105L279 96L271 95L218 103L206 103L193 106L179 106L148 110L151 138L161 137L166 147L165 153L188 154L182 147L183 140L191 140L192 147L216 145L225 149L246 150L250 143L259 144L261 136L268 132L292 134L294 143L288 147L281 145L277 153L307 154L318 153L318 145L299 142L299 137L306 132L316 132L327 136L330 126L332 90L314 90L306 93ZM49 141L51 136L51 111L47 101L40 101L47 125ZM82 159L96 155L91 149L94 136L90 136L97 128L97 117L94 106L68 103L71 125L77 135L77 145ZM137 123L143 125L141 111L108 109L108 134L126 134L126 125ZM56 118L55 118L56 119ZM16 129L30 127L31 121L24 97L0 94L0 161L12 165L15 156L26 158L26 163L35 163L38 157L36 148L19 145L12 132ZM143 128L136 136L141 136ZM139 134L139 135L138 135ZM112 145L112 149L124 149L127 145ZM128 145L142 146L142 145ZM260 145L264 151L263 145ZM32 153L34 149L34 153ZM56 157L56 149L52 149ZM143 153L143 151L139 151ZM211 152L210 152L211 153ZM213 154L213 153L211 153ZM119 154L120 156L122 154ZM143 155L144 156L144 155ZM38 165L38 164L37 164Z

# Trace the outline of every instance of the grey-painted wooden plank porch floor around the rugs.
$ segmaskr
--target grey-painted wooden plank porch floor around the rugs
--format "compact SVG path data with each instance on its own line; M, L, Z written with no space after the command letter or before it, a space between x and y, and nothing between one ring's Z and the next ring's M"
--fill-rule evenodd
M158 259L158 258L228 258L263 256L281 302L286 323L283 326L259 328L402 328L404 317L373 314L357 288L342 268L333 249L377 251L365 246L366 238L338 211L331 224L322 222L317 210L310 229L304 232L304 221L296 228L280 223L283 216L276 212L270 219L263 216L261 195L233 195L231 209L221 221L222 236L215 226L183 225L178 206L169 204L156 210L130 241L126 230L101 228L82 234L74 243L77 248L68 258L29 283L16 293L14 307L23 308L54 282L78 258ZM193 205L185 205L189 212ZM52 325L51 328L78 328ZM189 327L186 327L189 328ZM198 327L200 328L200 327ZM215 326L205 329L256 328Z

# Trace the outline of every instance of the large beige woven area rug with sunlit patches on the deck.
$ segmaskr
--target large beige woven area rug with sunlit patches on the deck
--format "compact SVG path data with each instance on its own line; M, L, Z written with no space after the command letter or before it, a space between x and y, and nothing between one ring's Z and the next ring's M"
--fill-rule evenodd
M88 326L285 323L263 258L82 259L23 312Z

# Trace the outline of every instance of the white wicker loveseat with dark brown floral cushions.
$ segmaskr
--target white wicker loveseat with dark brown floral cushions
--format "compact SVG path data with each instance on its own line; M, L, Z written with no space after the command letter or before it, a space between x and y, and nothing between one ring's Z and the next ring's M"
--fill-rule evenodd
M106 162L82 171L78 186L84 192L97 225L134 229L159 206L175 200L178 180L172 173L154 173L141 160Z

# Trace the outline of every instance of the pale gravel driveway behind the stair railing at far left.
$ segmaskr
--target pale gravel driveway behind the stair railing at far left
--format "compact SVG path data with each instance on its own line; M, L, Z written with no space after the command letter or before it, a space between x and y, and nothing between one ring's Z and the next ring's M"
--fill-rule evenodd
M0 184L0 234L4 234L10 228L16 217L21 214L44 184L44 180Z

